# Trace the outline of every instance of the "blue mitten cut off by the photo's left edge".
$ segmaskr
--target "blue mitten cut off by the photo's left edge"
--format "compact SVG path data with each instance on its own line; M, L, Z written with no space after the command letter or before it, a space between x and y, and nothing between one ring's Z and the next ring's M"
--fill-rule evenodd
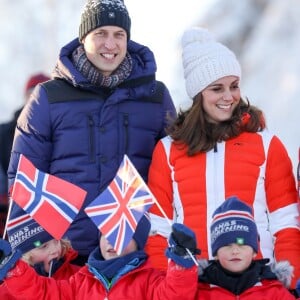
M0 280L5 278L7 272L13 268L21 256L22 253L19 250L12 251L8 241L0 239Z

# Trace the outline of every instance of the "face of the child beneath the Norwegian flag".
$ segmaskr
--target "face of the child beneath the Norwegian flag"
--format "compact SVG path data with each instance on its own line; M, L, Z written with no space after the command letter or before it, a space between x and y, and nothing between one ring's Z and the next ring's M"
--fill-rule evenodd
M59 259L61 252L62 247L60 241L53 239L38 248L30 250L28 257L30 257L30 264L32 265L44 263L44 269L49 273L51 261L56 258Z

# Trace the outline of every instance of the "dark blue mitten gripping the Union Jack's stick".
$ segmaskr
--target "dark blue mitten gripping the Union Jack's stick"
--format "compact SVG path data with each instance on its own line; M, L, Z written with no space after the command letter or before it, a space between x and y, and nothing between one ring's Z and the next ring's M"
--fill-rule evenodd
M191 229L180 223L173 224L169 245L170 247L166 250L168 258L184 268L190 268L195 265L187 249L192 255L200 254L200 250L197 249L196 236Z

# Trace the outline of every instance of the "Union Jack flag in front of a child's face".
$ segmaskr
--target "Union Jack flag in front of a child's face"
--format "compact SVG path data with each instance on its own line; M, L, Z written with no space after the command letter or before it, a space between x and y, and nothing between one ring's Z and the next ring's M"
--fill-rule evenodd
M139 220L155 202L127 155L109 186L85 208L86 214L121 254L135 232Z

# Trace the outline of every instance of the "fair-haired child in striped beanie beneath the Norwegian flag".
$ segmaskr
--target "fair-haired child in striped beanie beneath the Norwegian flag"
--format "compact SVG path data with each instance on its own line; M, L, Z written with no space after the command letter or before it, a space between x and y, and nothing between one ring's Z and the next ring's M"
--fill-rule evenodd
M44 277L68 279L80 267L72 264L77 257L69 240L54 239L20 206L13 202L7 235L13 251L22 253L22 260ZM0 285L0 299L14 300L5 283Z

